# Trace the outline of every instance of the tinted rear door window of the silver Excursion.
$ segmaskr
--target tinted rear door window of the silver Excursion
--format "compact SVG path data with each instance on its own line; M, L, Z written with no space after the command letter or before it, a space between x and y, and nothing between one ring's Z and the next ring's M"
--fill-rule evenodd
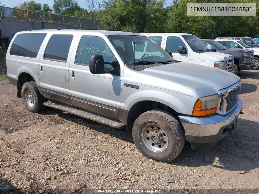
M44 53L44 59L67 62L73 35L52 35Z

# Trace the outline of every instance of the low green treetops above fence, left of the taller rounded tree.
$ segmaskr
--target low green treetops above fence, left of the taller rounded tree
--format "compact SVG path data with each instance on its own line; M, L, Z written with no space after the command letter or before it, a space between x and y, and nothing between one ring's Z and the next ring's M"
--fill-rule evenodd
M16 8L22 10L40 11L40 12L52 12L48 4L36 3L35 1L26 1L17 6Z

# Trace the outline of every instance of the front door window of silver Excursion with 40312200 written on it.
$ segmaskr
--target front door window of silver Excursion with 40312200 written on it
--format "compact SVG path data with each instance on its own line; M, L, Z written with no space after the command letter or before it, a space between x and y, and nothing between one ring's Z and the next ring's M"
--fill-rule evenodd
M124 43L123 43L124 45ZM124 50L120 44L120 48ZM105 62L110 62L114 59L112 51L106 44L106 42L98 36L82 36L78 45L77 54L75 58L75 64L89 66L90 58L92 55L103 55ZM112 69L112 66L106 64L105 71Z

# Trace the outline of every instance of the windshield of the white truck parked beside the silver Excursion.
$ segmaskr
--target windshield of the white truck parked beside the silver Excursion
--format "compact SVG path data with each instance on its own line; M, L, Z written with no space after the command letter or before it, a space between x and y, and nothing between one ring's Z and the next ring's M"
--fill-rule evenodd
M189 44L189 46L192 48L195 52L205 51L210 52L210 50L203 44L203 42L198 39L194 35L183 35L183 38L186 40L186 42Z

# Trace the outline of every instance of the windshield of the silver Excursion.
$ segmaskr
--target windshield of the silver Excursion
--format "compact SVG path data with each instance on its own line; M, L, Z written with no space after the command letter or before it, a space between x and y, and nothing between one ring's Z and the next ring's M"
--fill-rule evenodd
M174 62L173 58L162 47L147 36L110 35L109 38L129 66L133 66L134 63L141 67Z

